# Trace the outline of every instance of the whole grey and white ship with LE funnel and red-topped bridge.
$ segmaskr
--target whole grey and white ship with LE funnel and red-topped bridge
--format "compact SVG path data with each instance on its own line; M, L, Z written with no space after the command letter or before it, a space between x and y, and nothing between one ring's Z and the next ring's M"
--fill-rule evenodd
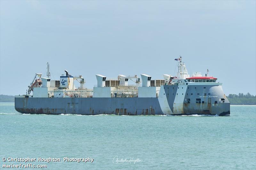
M195 72L190 77L181 56L175 60L175 76L164 74L164 79L153 80L147 74L117 78L97 74L93 89L85 87L81 75L71 76L67 70L59 80L52 80L47 63L46 77L36 73L26 95L15 96L15 109L51 115L230 115L222 83L209 76L208 70L203 76Z

